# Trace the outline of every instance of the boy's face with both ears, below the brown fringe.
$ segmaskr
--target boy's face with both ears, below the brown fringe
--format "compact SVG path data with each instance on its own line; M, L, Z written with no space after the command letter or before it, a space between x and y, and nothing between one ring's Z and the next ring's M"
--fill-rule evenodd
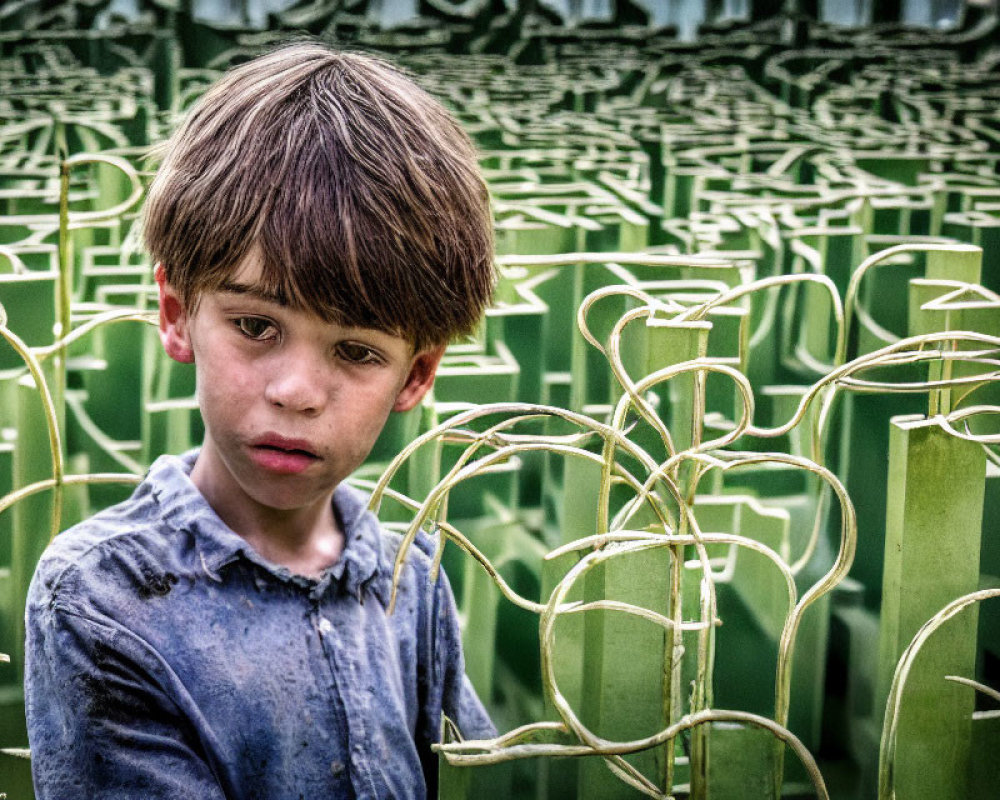
M248 258L188 313L157 272L164 347L197 373L205 442L192 479L217 511L318 510L389 412L431 387L444 347L414 354L398 336L324 322L262 296L258 273Z

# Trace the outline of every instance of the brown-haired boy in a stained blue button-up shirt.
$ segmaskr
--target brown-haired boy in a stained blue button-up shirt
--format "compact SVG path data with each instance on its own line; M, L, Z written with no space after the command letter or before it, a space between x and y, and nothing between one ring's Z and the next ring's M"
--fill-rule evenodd
M160 336L205 439L56 538L28 598L39 800L422 798L442 712L492 726L454 599L342 482L430 388L493 284L467 137L368 57L241 66L145 208Z

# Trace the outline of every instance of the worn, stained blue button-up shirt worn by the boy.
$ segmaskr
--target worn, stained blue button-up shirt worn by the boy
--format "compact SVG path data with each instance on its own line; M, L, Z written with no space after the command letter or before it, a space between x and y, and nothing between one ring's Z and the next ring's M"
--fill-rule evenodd
M165 456L126 502L56 537L28 595L38 800L434 796L442 712L493 728L444 574L340 486L346 542L310 580L258 555Z

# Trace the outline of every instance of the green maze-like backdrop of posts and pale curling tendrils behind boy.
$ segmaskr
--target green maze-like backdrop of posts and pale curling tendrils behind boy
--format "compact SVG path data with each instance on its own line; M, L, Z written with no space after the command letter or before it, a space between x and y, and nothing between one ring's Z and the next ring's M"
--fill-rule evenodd
M493 192L495 305L355 476L439 536L502 732L445 731L440 796L996 797L996 15L730 5L0 7L0 792L39 554L201 435L144 152L305 31L415 74Z

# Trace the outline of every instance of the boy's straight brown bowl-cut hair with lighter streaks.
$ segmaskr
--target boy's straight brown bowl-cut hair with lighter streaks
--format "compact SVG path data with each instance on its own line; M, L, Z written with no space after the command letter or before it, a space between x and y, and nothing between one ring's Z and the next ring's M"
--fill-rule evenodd
M312 42L205 94L167 143L144 216L189 309L255 249L264 291L421 349L470 332L494 283L468 136L393 67Z

